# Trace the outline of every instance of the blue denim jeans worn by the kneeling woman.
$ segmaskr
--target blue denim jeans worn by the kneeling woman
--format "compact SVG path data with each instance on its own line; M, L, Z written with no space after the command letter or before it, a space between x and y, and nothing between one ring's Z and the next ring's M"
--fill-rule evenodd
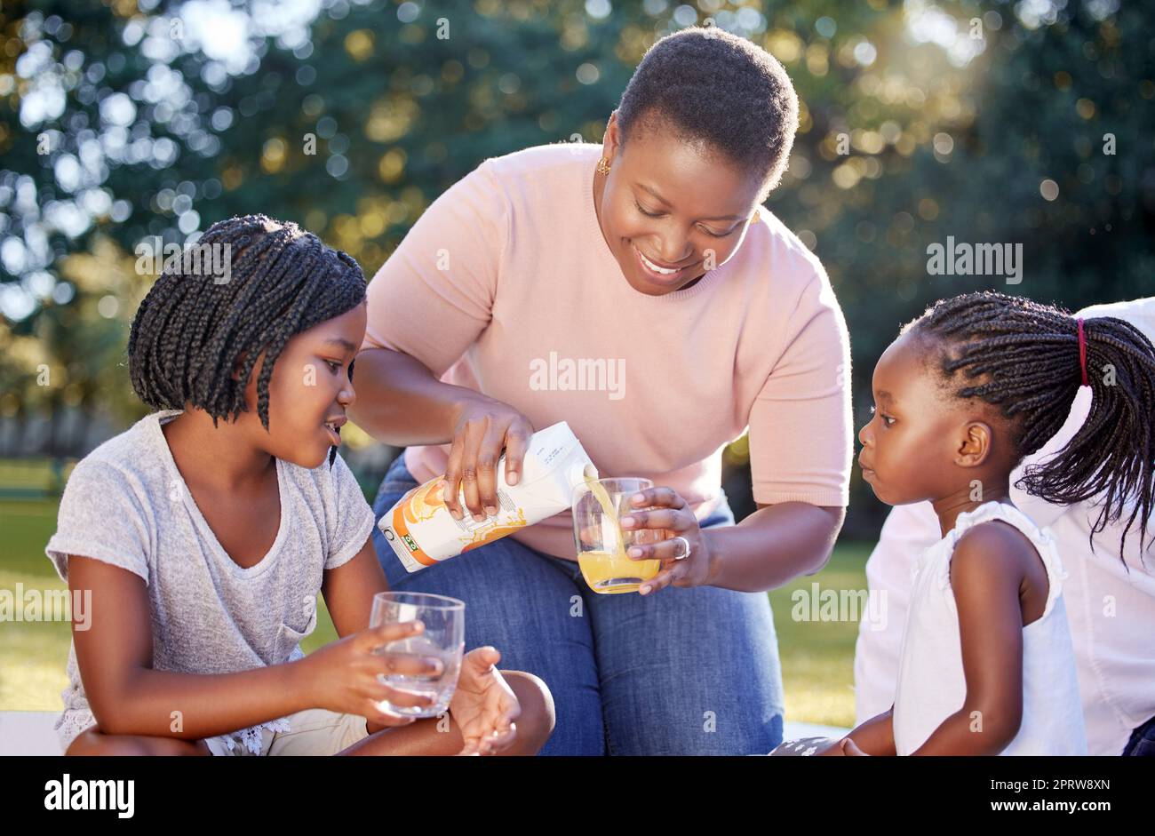
M380 520L417 485L404 455L373 502ZM724 501L702 528L732 525ZM597 595L578 563L505 537L408 573L380 530L389 588L461 598L465 650L545 680L557 725L543 755L765 755L782 742L782 672L765 592L668 587Z

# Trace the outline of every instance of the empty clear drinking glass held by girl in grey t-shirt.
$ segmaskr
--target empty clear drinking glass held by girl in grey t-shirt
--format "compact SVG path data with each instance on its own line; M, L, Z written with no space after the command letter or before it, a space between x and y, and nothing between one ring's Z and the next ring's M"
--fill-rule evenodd
M425 629L408 639L382 644L373 652L411 654L441 660L439 675L378 674L385 685L397 691L433 697L429 706L394 706L388 700L378 708L405 717L437 717L449 707L461 673L461 657L465 650L465 602L427 592L378 592L373 596L373 611L368 626L422 621Z

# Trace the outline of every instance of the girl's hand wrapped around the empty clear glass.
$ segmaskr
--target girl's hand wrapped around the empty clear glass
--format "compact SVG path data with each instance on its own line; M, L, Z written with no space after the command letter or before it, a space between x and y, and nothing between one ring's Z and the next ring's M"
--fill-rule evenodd
M374 654L373 650L398 639L418 635L425 626L404 621L371 627L314 650L299 665L301 688L311 706L337 714L356 714L386 726L409 725L415 717L388 714L377 703L388 700L394 706L429 706L432 696L396 691L378 680L378 674L408 675L441 672L441 660L413 654Z

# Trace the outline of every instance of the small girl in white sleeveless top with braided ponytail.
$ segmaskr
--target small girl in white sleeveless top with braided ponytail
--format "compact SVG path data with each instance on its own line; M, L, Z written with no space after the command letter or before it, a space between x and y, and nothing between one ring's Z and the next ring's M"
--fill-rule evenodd
M1155 346L1130 323L983 292L939 301L874 368L863 478L889 505L930 500L942 539L912 569L894 704L820 754L1086 754L1075 659L1051 537L1009 500L1011 472L1091 412L1018 483L1095 530L1155 502Z

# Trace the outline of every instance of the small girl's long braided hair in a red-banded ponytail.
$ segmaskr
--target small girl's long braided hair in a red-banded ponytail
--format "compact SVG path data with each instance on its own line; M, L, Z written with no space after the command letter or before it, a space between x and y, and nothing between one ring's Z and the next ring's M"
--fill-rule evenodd
M1015 463L1066 423L1083 380L1079 322L1067 312L993 291L936 303L902 333L939 348L938 371L956 397L996 405L1007 420ZM1091 406L1079 432L1044 464L1028 465L1018 487L1056 505L1101 498L1094 535L1133 505L1119 538L1140 522L1140 552L1155 500L1155 346L1113 316L1082 321ZM971 382L973 381L973 382ZM1097 502L1096 502L1097 503Z

